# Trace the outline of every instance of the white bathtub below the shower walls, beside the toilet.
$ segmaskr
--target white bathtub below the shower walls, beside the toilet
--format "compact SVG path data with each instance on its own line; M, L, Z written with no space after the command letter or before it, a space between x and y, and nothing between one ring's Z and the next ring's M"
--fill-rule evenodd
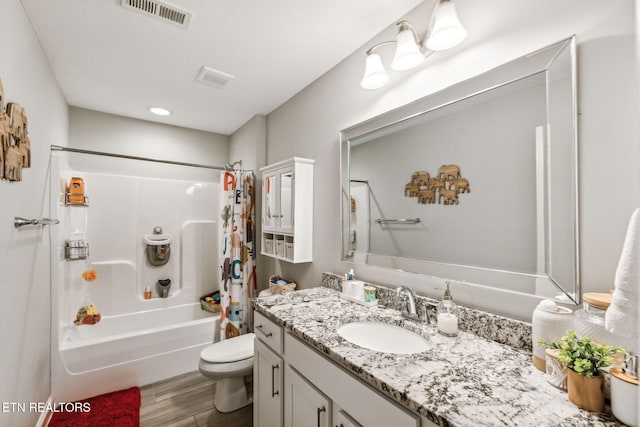
M68 402L195 371L202 349L218 339L218 324L218 314L193 303L63 326L52 394Z

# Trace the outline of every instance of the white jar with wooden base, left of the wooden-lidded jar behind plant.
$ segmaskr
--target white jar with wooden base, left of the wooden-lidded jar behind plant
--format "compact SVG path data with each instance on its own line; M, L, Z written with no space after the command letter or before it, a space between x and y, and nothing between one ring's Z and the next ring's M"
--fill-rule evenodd
M569 329L573 329L573 311L551 300L540 301L531 320L533 366L546 372L545 347L538 345L537 341L543 339L547 343L560 343Z

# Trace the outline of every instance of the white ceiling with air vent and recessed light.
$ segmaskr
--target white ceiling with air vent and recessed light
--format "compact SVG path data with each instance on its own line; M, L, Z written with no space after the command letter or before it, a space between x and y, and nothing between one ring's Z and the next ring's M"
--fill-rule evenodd
M187 29L121 0L21 0L76 107L229 135L268 114L421 0L169 0ZM206 65L235 76L218 89ZM147 106L174 111L159 118Z

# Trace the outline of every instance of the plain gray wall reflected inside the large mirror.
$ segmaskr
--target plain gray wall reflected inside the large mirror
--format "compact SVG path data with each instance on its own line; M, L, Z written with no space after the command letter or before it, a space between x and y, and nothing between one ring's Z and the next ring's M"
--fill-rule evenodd
M372 218L421 219L372 224L371 252L535 274L535 130L545 121L544 94L538 85L476 97L353 147L351 176L369 181ZM471 192L457 205L405 196L413 172L433 177L443 164L458 165L469 180Z

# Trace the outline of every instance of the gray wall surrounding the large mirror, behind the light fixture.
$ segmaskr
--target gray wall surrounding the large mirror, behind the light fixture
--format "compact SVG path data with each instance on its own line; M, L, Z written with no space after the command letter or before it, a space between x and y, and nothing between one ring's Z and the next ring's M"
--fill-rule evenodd
M422 25L430 13L431 2L427 3L412 11L409 20ZM319 283L323 271L345 272L352 267L340 261L340 129L576 34L583 290L613 287L626 227L640 193L634 2L568 0L558 7L558 2L545 0L537 2L535 12L527 8L521 12L516 2L499 0L457 4L461 16L467 11L470 33L474 26L484 26L486 39L434 54L417 69L392 72L387 87L366 91L359 86L364 52L376 42L393 39L395 29L390 27L268 115L268 163L294 155L316 160L314 262L291 265L269 260L271 271L311 287ZM505 7L512 9L491 12ZM390 61L392 49L383 55ZM358 265L354 270L365 280L441 295L436 288L442 281L431 277ZM521 319L530 320L537 303L533 297L481 285L454 284L452 292L459 302Z

